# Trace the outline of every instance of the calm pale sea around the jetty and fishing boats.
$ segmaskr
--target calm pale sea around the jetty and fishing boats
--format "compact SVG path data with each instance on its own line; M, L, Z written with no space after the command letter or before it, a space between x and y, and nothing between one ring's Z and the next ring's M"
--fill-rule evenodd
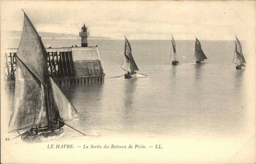
M129 40L129 38L128 38ZM199 38L200 40L200 38ZM13 40L18 47L19 39ZM234 41L201 41L208 60L192 59L195 41L176 41L180 64L170 61L171 41L129 40L139 68L124 79L124 40L88 40L98 45L104 82L60 86L83 116L69 124L88 135L232 136L245 130L246 68L232 63ZM80 45L80 39L43 39L45 47ZM241 42L243 45L243 41ZM244 55L246 60L246 54ZM12 104L14 90L8 90ZM11 114L12 106L9 106ZM66 128L64 138L80 136Z

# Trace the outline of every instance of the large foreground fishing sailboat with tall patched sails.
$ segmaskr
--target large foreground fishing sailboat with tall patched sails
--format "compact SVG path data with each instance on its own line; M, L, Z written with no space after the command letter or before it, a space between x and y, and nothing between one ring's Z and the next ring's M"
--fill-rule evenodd
M24 12L8 131L26 131L20 136L28 143L62 137L64 124L81 116L49 76L46 60L43 42Z

